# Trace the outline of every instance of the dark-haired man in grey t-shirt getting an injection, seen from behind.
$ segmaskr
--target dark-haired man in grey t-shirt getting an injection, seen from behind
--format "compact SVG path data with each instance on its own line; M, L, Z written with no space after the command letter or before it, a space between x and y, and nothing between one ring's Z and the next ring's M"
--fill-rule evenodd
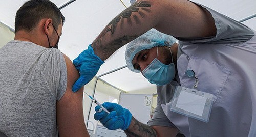
M83 88L71 89L79 74L57 49L64 21L48 0L16 13L15 38L0 49L0 132L7 136L89 136Z

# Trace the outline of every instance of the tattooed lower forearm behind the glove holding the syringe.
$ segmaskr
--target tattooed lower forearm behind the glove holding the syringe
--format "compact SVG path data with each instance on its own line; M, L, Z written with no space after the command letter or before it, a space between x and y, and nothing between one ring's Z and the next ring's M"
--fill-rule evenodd
M148 126L146 124L140 123L134 117L132 118L131 124L127 130L124 132L129 137L163 137L163 136L176 136L178 134L178 129L163 126Z

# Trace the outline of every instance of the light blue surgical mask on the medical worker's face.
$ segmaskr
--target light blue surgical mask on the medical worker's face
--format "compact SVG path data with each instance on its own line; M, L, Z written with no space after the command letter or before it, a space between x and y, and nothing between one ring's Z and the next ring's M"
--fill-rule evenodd
M170 51L172 54L172 51ZM157 48L158 55L158 48ZM173 60L173 54L172 54ZM155 58L150 65L148 65L143 71L143 76L152 84L165 85L170 83L175 77L175 65L174 62L169 65L165 65Z

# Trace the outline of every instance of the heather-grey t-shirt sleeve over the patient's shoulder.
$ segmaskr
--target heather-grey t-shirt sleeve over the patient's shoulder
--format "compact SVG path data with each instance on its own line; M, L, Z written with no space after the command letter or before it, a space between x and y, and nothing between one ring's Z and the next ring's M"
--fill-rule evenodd
M65 58L56 48L47 49L44 56L44 74L51 93L59 101L67 88L67 66Z

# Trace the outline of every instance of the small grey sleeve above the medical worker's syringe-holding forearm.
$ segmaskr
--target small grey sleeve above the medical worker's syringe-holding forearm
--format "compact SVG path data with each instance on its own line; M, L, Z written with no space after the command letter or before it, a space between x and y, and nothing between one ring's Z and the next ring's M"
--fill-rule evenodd
M175 125L170 122L167 116L164 114L163 109L161 107L159 97L157 97L157 107L155 108L153 117L150 121L147 122L149 126L166 126L166 127L175 127Z

